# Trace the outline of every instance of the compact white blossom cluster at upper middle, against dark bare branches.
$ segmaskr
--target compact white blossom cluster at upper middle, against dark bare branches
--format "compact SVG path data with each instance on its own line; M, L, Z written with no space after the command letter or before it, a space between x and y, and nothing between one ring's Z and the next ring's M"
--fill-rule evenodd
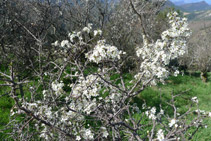
M91 62L100 63L104 60L120 59L121 54L125 52L119 51L117 47L105 43L105 40L100 40L94 47L93 51L86 54L86 57Z

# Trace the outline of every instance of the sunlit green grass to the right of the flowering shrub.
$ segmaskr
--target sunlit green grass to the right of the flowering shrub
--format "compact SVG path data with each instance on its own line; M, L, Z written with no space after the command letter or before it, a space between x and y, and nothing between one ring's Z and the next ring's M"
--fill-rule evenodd
M169 97L170 93L179 93L190 89L184 97L188 100L191 97L197 96L199 99L199 108L201 110L211 112L211 73L209 74L209 82L203 83L200 80L199 73L192 76L178 76L171 77L166 85L159 85L156 87L151 87L142 92L139 96L141 99L146 99L151 106L158 106L159 96L162 94L164 97ZM185 110L186 102L181 101L179 108ZM208 125L208 128L200 129L198 133L192 139L193 141L210 141L211 140L211 119L207 119L205 124Z

